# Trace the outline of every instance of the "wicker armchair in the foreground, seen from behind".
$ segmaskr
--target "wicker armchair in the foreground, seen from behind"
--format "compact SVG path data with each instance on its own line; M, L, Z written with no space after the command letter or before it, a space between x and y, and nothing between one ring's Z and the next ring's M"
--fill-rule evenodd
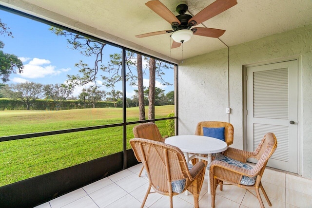
M149 179L141 208L144 207L147 196L152 193L152 187L155 192L170 197L171 208L172 197L188 190L193 194L195 208L198 208L199 192L205 176L203 162L198 162L189 170L183 152L175 146L141 138L131 139L130 145L137 160L142 160ZM177 187L180 189L176 189Z

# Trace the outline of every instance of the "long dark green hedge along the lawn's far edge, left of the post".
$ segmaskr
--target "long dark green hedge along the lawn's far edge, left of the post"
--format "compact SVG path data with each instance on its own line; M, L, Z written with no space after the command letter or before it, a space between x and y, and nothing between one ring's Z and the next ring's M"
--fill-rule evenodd
M83 109L93 108L91 103L86 103L85 106L80 100L65 100L60 106L60 110L71 110L71 109ZM114 108L114 102L99 101L96 103L96 108ZM16 99L0 98L0 110L26 110L26 105ZM56 104L53 100L48 99L37 99L32 101L30 104L30 110L56 110Z

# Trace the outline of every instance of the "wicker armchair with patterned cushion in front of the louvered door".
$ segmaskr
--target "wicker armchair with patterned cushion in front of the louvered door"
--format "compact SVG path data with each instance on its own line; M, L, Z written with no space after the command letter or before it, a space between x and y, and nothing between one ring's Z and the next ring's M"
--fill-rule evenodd
M235 185L243 189L254 189L261 208L264 208L259 188L262 190L269 206L272 206L268 195L261 184L261 178L269 158L276 150L277 140L273 133L266 133L254 152L228 148L223 155L219 154L210 164L211 207L215 208L215 189L217 185ZM220 158L218 158L220 156ZM254 167L246 164L247 158L258 160ZM223 184L220 182L228 183ZM254 183L254 184L253 184ZM221 189L221 187L220 187ZM222 190L222 189L221 189Z

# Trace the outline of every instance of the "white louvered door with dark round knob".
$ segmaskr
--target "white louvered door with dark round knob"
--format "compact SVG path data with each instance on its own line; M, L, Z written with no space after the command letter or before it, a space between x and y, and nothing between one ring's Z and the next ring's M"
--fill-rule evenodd
M266 132L277 138L268 166L298 173L297 60L247 68L248 151Z

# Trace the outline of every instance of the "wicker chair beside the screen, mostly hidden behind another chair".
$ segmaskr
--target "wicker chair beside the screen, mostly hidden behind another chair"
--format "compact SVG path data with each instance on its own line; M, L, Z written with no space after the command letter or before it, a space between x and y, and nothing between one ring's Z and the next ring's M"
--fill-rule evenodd
M143 123L135 126L133 128L133 134L135 135L135 138L144 138L144 139L151 139L158 142L164 142L165 139L161 137L161 134L159 132L158 127L155 123ZM140 160L138 160L141 162ZM144 169L144 166L142 166L141 171L139 172L138 176L141 176L141 173Z

